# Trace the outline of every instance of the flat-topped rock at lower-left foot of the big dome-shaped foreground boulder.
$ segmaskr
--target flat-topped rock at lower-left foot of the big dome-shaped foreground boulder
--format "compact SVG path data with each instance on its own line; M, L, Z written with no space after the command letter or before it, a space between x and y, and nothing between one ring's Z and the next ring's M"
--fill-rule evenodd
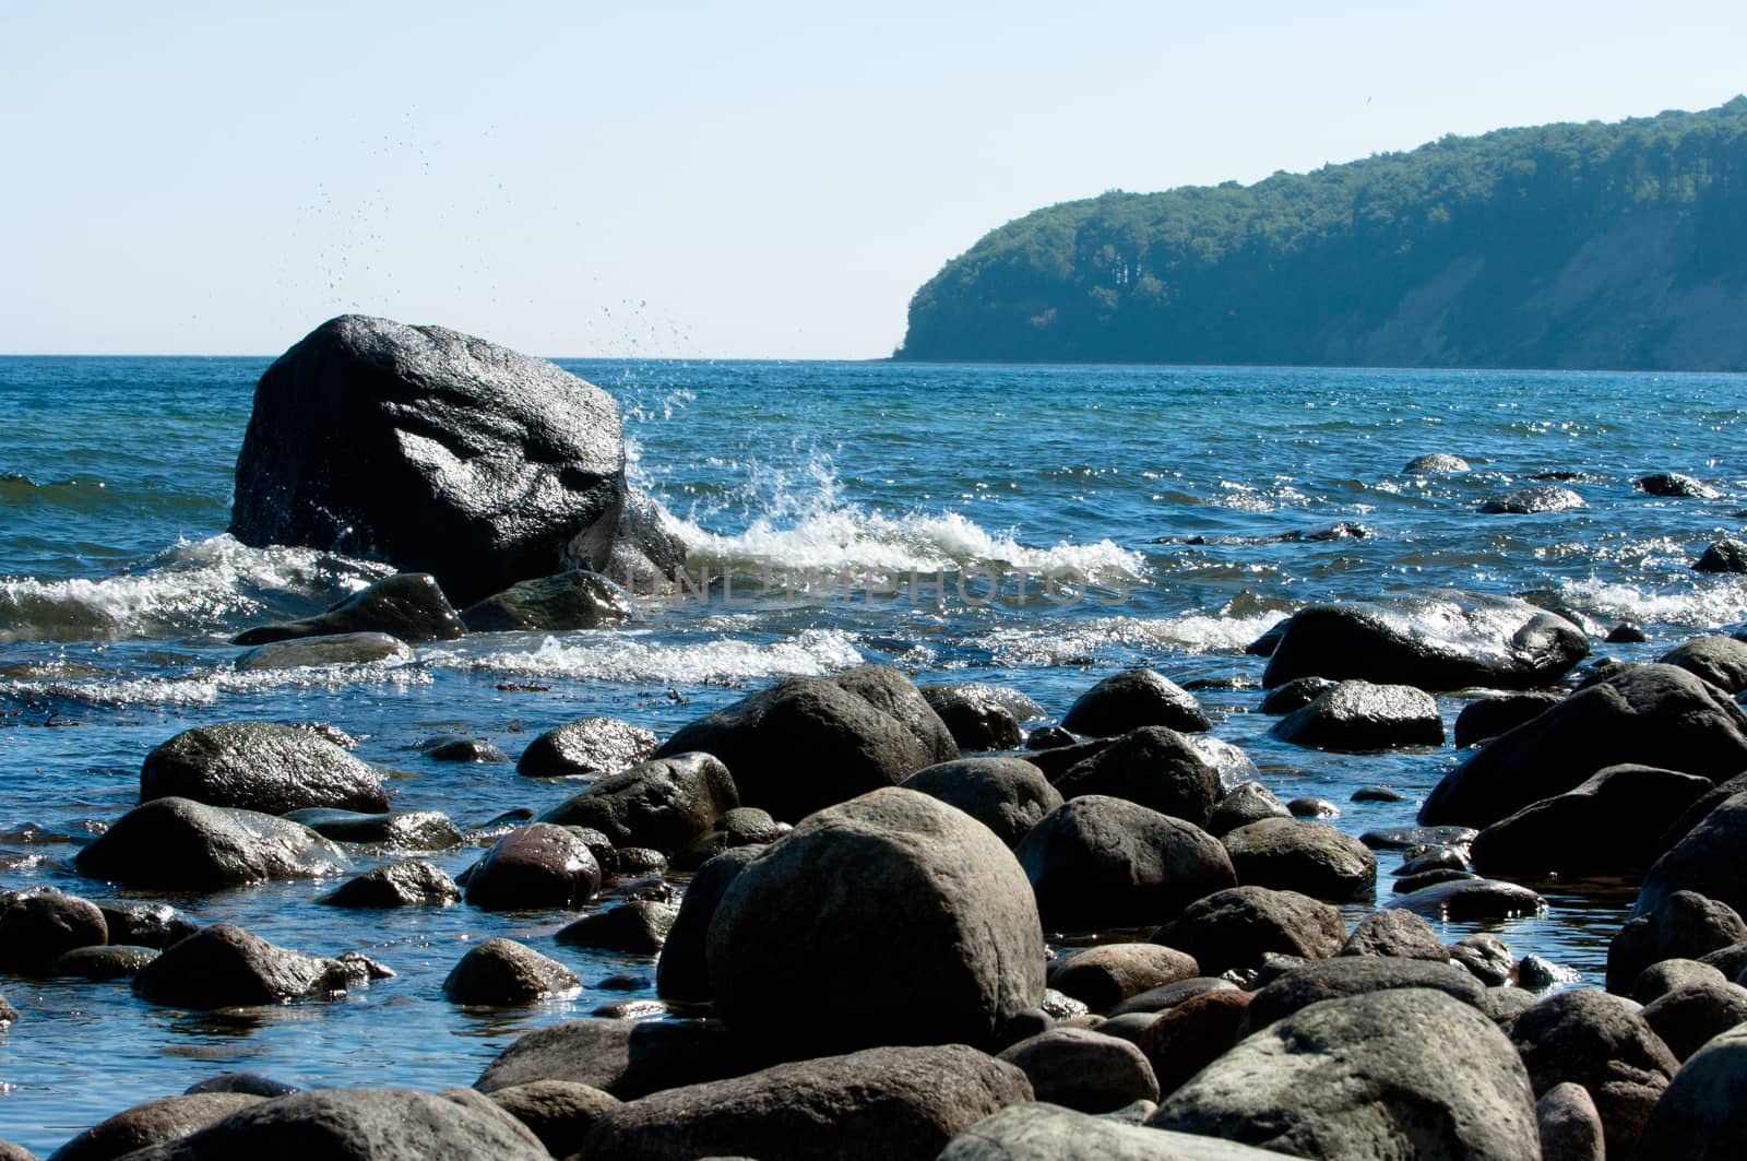
M517 1037L473 1088L496 1093L533 1081L570 1081L636 1100L660 1089L751 1072L744 1049L716 1023L566 1019Z

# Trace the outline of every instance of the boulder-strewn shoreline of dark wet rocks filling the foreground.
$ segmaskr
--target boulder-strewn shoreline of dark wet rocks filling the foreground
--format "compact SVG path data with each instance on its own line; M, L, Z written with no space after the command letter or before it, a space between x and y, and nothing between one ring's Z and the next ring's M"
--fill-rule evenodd
M570 563L608 567L631 542L648 577L660 553L622 532L618 504L590 509L617 539ZM459 610L440 577L402 572L239 635L238 664L344 664L507 622L624 617L624 589L599 574L545 556L529 568L468 582ZM147 755L140 806L79 852L94 888L332 878L321 902L388 928L407 907L587 911L554 944L636 956L660 998L529 1032L470 1089L295 1091L227 1074L52 1156L1740 1152L1747 643L1700 636L1647 664L1585 664L1588 633L1557 610L1429 593L1309 607L1253 650L1268 657L1258 710L1289 745L1441 747L1431 694L1467 701L1454 738L1467 757L1419 827L1357 839L1319 820L1328 803L1281 803L1211 736L1193 692L1146 668L1104 677L1059 720L1022 691L915 685L887 666L790 678L667 738L580 719L529 743L517 771L583 789L500 820L454 878L419 853L454 850L461 831L393 810L337 731L178 733ZM507 761L470 738L430 745ZM360 850L397 860L355 874ZM1401 862L1384 897L1380 859ZM1640 886L1605 990L1560 990L1558 965L1487 934L1445 944L1427 921L1532 914L1544 904L1515 879L1550 874ZM0 904L0 970L128 979L171 1009L320 1002L393 974L201 928L166 904L54 890ZM1356 904L1370 906L1349 923L1340 906ZM540 948L491 939L442 993L496 1007L577 986Z

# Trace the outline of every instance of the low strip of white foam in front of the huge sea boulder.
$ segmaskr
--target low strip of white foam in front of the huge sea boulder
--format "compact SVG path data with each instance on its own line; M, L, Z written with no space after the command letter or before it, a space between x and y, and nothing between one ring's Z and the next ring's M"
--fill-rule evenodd
M748 642L716 636L671 645L615 633L587 640L547 636L533 649L486 654L432 649L426 664L514 677L566 677L603 682L748 682L772 677L823 677L865 659L844 633L804 629L795 636Z

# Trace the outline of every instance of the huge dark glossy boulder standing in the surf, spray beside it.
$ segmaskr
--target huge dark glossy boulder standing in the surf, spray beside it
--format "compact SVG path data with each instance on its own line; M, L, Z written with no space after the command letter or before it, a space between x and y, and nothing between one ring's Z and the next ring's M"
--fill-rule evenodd
M599 388L456 330L342 315L260 376L231 533L386 560L475 601L604 568L624 500Z

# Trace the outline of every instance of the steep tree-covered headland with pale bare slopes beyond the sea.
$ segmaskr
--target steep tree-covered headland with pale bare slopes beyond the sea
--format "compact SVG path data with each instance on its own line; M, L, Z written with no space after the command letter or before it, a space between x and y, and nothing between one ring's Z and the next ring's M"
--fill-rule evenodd
M1747 98L1031 213L900 358L1747 371Z

